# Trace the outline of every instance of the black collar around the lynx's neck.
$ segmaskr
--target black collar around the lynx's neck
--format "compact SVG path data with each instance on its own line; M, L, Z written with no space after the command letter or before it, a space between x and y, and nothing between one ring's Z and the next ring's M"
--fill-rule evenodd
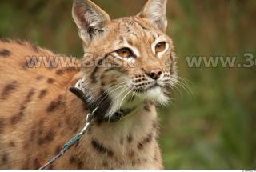
M82 100L82 102L85 103L85 106L90 110L90 114L97 108L97 106L95 106L95 103L90 102L89 97L86 94L84 94L82 90L76 87L70 87L70 92L76 95L78 98ZM110 103L110 101L108 102ZM136 109L135 107L128 108L128 109L121 109L116 111L111 117L105 117L106 106L110 106L110 104L99 105L98 110L94 112L94 117L98 118L98 120L100 121L118 122L122 118L124 118L126 115L130 114L132 111Z

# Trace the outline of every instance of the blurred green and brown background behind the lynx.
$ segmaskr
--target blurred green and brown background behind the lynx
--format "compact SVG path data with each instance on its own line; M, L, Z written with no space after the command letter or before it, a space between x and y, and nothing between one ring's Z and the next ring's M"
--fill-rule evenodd
M95 0L112 18L145 0ZM71 0L1 0L0 38L21 38L82 57ZM186 56L256 56L256 1L169 0L168 34L179 56L179 89L159 108L166 169L256 168L256 62L251 68L189 68ZM255 58L254 58L255 59Z

